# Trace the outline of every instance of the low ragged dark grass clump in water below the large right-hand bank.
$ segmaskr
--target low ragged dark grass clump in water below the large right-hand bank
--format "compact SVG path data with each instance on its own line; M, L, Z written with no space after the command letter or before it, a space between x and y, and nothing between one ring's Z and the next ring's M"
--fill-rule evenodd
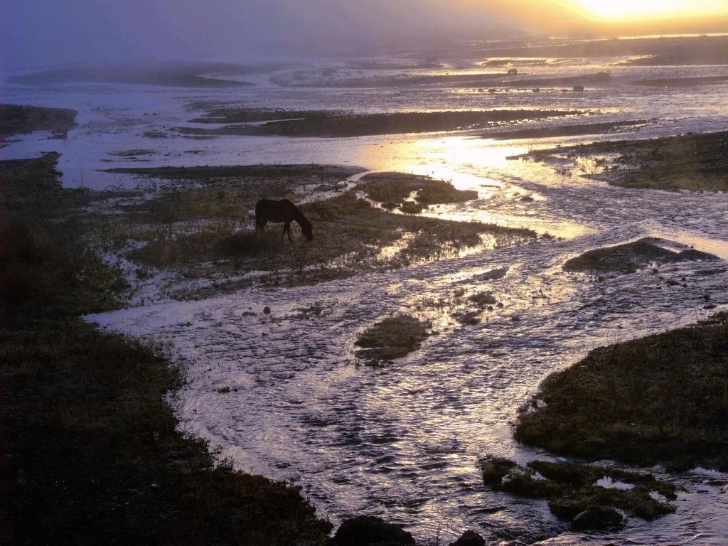
M525 467L502 457L488 455L480 461L483 482L494 491L505 491L532 499L548 499L551 512L566 520L588 509L624 510L645 520L675 511L673 505L650 496L660 494L675 500L675 486L646 472L579 462L533 461ZM611 478L631 488L602 487L597 481ZM659 498L659 497L658 497Z

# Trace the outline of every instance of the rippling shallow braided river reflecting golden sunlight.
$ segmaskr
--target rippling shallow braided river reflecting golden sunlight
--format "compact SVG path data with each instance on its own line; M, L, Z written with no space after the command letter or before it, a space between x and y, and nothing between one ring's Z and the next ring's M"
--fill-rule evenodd
M598 68L566 66L563 71ZM725 69L681 70L711 75ZM431 173L452 179L461 189L478 190L477 200L429 213L528 226L555 238L486 247L411 269L312 287L162 301L90 320L170 344L189 379L177 400L185 426L220 446L223 456L242 470L295 480L333 523L353 514L381 515L405 523L419 539L439 535L444 543L474 529L495 541L524 543L713 545L728 536L728 494L724 486L711 485L717 483L711 472L695 470L678 478L685 491L679 494L676 514L653 523L633 519L620 533L588 537L558 535L564 525L545 502L486 490L476 462L487 453L519 462L549 457L519 446L510 428L518 407L549 373L593 347L706 317L715 312L703 309L707 300L716 309L728 308L728 273L700 274L715 269L715 263L670 264L602 282L561 269L585 250L647 235L728 259L728 194L620 189L505 159L539 146L579 142L575 138L496 143L472 134L440 134L157 141L139 134L184 124L190 116L183 106L193 100L236 98L290 108L569 107L598 109L604 119L657 118L625 135L631 138L728 128L723 90L604 86L567 98L561 92L494 97L440 87L405 95L391 90L312 92L264 81L254 91L9 86L5 100L76 108L80 126L66 141L23 138L0 149L0 157L58 150L68 186L131 183L95 169L127 165L103 161L109 159L108 151L150 148L158 152L150 162L129 165L348 163ZM523 202L524 195L534 200ZM472 280L502 267L507 274L501 279ZM679 284L668 285L668 280ZM505 306L477 325L460 325L430 304L454 298L462 289L486 288ZM272 309L269 315L262 313L266 305ZM320 312L301 311L312 306ZM353 356L357 334L397 311L432 320L435 335L395 364L359 365ZM223 387L229 392L218 392Z

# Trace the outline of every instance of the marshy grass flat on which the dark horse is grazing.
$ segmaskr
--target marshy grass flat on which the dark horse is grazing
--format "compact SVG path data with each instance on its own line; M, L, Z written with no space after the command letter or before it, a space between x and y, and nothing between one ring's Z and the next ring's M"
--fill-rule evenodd
M111 248L126 248L126 258L184 280L187 285L165 285L164 293L175 298L229 293L253 283L317 284L536 237L527 229L389 213L358 198L356 191L344 191L341 177L358 171L326 165L114 169L168 183L143 199L119 202L111 211L99 204L87 219L98 225ZM423 180L433 187L445 184L449 197L437 199L471 197L446 183ZM317 194L322 186L326 191ZM281 240L281 223L269 223L256 237L252 210L264 197L309 199L300 208L313 223L312 242L302 239L296 223L293 242Z

